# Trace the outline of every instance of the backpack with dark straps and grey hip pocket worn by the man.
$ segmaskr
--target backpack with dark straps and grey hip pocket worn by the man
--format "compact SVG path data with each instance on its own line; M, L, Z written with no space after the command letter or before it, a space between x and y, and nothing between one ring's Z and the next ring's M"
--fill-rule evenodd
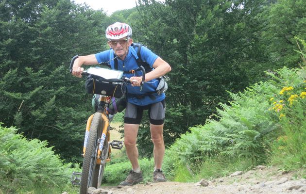
M142 66L146 70L146 73L152 71L153 69L151 68L151 66L147 62L143 61L142 58L141 58L140 50L141 50L141 47L144 46L144 45L142 45L140 43L132 43L131 46L135 50L137 48L137 57L138 57L138 58L136 58L137 65L139 67ZM144 46L144 47L146 47L146 46ZM115 55L115 53L114 53L114 55ZM118 59L117 58L114 59L114 66L115 66L115 69L118 70ZM133 70L130 70L130 71L124 71L124 73L134 73L135 71L140 71L140 70L141 70L141 68L133 69ZM165 93L167 91L168 84L166 82L165 77L161 76L158 79L159 79L159 84L158 84L155 92L151 92L150 94L157 93L158 95L160 95L160 94ZM150 94L148 94L148 95L150 95Z

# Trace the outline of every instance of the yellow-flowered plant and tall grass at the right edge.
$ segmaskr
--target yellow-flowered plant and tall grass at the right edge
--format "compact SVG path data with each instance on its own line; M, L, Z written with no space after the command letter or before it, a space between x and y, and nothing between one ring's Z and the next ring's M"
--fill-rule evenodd
M302 44L305 48L305 42ZM306 167L306 63L304 55L302 58L302 69L276 71L280 79L275 79L274 84L282 88L271 98L271 109L282 126L281 134L272 143L271 161L286 170Z

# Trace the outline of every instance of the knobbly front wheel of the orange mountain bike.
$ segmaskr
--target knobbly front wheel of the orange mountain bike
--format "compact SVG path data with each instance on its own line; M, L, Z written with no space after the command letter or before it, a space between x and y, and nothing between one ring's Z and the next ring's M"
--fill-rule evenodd
M80 194L87 194L87 189L89 187L97 188L97 169L99 172L99 168L97 168L99 165L96 164L99 149L98 139L102 135L103 124L101 113L95 113L91 121L85 157L83 160Z

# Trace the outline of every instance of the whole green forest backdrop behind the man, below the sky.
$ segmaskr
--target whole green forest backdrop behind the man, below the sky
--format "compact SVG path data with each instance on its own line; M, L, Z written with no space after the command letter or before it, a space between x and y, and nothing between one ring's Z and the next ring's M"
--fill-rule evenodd
M231 94L303 63L297 50L306 40L305 0L139 0L111 16L70 0L2 0L1 126L16 126L28 140L46 140L64 162L81 163L91 96L68 65L74 55L109 49L104 33L116 21L131 25L134 42L172 67L167 147L190 127L220 120L216 107L229 105ZM148 122L140 128L139 154L150 158Z

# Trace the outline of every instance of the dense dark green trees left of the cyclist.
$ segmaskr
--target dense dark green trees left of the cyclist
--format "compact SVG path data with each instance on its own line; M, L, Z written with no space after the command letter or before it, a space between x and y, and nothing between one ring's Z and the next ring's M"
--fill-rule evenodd
M0 9L0 121L81 162L90 98L68 64L107 49L105 14L69 0L5 0Z

